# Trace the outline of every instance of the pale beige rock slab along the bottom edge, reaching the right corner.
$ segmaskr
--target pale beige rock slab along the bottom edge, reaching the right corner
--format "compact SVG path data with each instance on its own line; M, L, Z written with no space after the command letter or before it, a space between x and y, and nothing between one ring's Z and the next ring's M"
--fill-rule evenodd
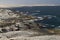
M58 35L45 35L45 36L36 36L36 37L14 37L10 38L14 40L60 40Z

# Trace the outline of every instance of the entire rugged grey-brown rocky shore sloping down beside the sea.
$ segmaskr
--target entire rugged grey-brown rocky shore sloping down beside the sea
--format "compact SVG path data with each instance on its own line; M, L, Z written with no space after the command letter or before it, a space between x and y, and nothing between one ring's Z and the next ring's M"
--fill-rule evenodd
M35 17L19 11L0 10L0 40L59 40L60 30L47 28L37 20L48 17Z

